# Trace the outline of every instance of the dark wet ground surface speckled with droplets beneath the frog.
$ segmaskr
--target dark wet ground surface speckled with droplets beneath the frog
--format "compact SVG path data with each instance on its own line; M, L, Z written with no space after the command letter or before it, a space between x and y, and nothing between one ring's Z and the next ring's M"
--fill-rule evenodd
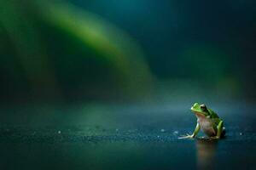
M254 106L214 108L225 139L178 139L195 126L183 105L6 107L0 168L255 169Z

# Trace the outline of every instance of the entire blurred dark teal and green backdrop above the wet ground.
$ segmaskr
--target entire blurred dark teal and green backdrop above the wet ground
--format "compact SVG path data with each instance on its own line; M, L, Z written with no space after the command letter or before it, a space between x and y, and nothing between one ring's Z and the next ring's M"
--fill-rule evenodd
M254 101L255 7L228 0L2 2L1 99L212 99L213 92ZM82 34L92 32L79 26L102 39L84 42L91 37Z

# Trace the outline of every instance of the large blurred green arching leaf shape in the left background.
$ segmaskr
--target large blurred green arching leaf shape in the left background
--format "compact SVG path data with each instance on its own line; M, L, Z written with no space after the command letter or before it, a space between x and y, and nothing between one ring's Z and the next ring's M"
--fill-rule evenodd
M6 97L136 96L152 75L125 31L64 1L1 1Z

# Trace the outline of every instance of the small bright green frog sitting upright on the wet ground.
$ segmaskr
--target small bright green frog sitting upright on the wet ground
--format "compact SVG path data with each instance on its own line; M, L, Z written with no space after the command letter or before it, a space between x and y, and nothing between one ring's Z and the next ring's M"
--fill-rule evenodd
M195 138L196 134L199 133L200 129L204 133L206 133L207 136L209 136L211 139L220 139L221 137L224 137L224 122L218 117L218 115L214 111L207 108L206 105L200 105L198 103L195 103L191 107L191 111L193 111L195 113L195 116L197 117L195 131L193 134L187 134L183 137L180 137L179 139Z

